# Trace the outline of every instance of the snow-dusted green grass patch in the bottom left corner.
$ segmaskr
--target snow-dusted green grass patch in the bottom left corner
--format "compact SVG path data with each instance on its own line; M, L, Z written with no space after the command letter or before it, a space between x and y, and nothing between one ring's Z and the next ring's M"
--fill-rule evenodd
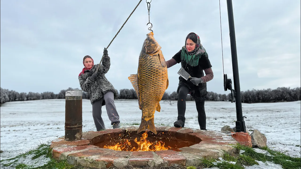
M41 156L44 156L44 159L48 159L48 162L42 166L33 166L27 163L18 163L19 159L22 158L29 158L31 160L35 160ZM40 159L39 159L40 160ZM61 160L60 162L58 162L57 160L53 159L51 156L51 149L49 146L49 143L45 143L45 144L40 144L39 146L37 146L36 148L30 149L27 152L21 153L19 155L17 155L14 158L10 158L10 159L5 159L5 160L1 160L1 165L5 166L5 167L15 167L16 169L84 169L84 167L79 166L79 165L70 165L67 163L67 160ZM39 164L40 161L35 161L36 164Z

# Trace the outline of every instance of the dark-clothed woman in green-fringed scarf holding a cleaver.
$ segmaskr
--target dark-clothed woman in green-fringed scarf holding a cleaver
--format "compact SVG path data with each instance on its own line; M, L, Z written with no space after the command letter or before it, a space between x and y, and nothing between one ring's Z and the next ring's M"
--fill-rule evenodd
M191 32L185 40L185 45L182 49L166 61L167 68L181 63L183 69L190 74L193 79L185 80L179 77L178 85L178 120L175 121L175 127L184 127L185 124L185 110L186 97L191 94L194 98L197 112L198 122L201 130L206 130L206 113L204 108L205 100L208 99L206 82L213 79L213 72L211 64L208 59L208 54L200 43L200 37ZM204 72L205 76L204 76Z

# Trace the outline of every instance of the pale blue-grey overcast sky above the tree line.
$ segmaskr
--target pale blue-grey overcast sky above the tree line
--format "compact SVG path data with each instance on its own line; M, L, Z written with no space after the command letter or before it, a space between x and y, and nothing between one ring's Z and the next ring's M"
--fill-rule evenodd
M18 92L58 93L80 88L82 58L99 63L139 0L1 0L1 87ZM240 88L300 87L300 0L233 0ZM224 70L233 81L227 4L221 0ZM154 37L169 60L197 33L214 73L207 90L223 90L219 1L152 0ZM107 79L117 89L133 88L138 57L150 31L147 4L141 2L108 48ZM169 87L178 87L177 64L168 69ZM233 86L234 87L234 86Z

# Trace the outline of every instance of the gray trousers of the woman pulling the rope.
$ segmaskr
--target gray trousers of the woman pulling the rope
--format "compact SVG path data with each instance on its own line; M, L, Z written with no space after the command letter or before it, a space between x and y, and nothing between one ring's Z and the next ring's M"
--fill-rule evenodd
M97 131L106 129L104 127L104 121L101 118L101 103L103 100L106 102L107 114L111 121L111 125L113 125L115 122L120 122L119 115L114 103L114 93L107 92L100 100L92 104L92 115Z

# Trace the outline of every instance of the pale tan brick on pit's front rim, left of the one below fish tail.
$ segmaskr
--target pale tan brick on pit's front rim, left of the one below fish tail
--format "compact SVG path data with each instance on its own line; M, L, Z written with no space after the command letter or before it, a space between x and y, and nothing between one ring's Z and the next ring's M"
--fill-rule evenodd
M112 151L107 154L100 155L97 158L94 158L95 161L104 161L106 162L106 167L109 168L114 165L114 160L123 157L129 157L132 152L130 151Z

